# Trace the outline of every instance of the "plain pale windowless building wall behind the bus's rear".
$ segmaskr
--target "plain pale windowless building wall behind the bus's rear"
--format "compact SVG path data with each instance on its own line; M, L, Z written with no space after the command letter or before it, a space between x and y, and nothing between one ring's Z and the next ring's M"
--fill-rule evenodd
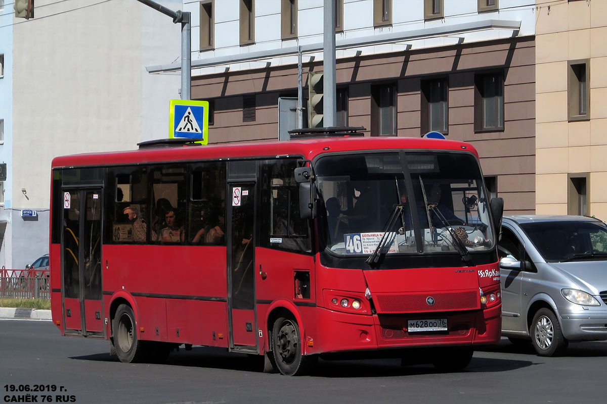
M162 4L181 8L180 1ZM178 58L181 44L180 25L132 0L36 0L27 20L12 7L5 0L0 12L0 159L7 163L0 267L22 269L49 252L53 157L166 137L180 81L148 75L145 65L159 55Z

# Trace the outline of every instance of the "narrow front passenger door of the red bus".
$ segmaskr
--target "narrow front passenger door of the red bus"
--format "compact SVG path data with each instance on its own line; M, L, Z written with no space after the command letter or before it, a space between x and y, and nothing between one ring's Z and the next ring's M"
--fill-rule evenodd
M228 323L229 346L257 352L255 308L255 184L230 183L228 205Z

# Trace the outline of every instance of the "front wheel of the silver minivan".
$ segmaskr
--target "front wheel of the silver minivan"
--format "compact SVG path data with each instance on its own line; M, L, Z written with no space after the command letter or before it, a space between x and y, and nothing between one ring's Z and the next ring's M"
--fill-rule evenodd
M540 356L557 356L568 345L563 337L557 316L548 308L541 308L535 313L529 327L531 343Z

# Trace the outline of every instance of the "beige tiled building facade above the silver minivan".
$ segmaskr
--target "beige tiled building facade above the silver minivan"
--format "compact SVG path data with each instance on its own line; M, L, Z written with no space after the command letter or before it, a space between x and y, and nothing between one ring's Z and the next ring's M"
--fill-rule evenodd
M537 1L537 213L607 220L607 2Z

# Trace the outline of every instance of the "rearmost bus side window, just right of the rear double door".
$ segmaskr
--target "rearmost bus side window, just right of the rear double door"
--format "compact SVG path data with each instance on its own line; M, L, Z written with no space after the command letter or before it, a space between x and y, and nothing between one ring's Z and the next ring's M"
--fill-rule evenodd
M110 243L145 243L148 240L148 173L146 167L122 167L109 172L108 216Z

